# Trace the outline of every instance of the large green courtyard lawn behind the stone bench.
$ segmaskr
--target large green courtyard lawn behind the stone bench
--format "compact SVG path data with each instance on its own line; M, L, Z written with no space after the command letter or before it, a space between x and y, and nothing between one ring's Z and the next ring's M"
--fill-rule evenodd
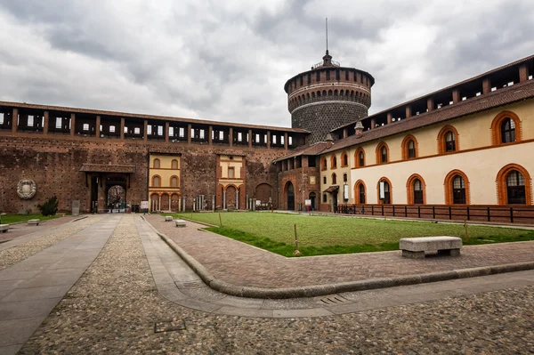
M174 214L219 226L218 213ZM465 245L534 240L534 230L461 224L384 221L308 214L222 213L223 227L208 230L289 256L295 250L295 230L302 255L346 254L399 248L400 238L455 236Z

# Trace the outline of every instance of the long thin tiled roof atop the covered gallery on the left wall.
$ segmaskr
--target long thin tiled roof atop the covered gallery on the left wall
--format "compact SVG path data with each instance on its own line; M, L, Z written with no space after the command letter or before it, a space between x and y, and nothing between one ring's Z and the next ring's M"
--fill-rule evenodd
M226 125L226 126L232 126L232 127L263 129L263 130L270 130L270 131L310 133L309 131L306 131L301 128L277 127L277 126L271 126L271 125L247 125L247 124L238 124L238 123L231 123L231 122L208 121L205 119L144 115L144 114L136 114L136 113L128 113L128 112L105 111L101 109L79 109L79 108L69 108L69 107L62 107L62 106L39 105L39 104L33 104L33 103L0 101L0 106L12 106L12 107L20 108L20 109L43 109L43 110L48 110L48 111L50 110L67 111L69 113L86 113L86 114L91 114L91 115L103 115L103 116L134 117L134 118L143 118L143 119L148 118L148 119L182 122L182 123L187 123L187 124Z

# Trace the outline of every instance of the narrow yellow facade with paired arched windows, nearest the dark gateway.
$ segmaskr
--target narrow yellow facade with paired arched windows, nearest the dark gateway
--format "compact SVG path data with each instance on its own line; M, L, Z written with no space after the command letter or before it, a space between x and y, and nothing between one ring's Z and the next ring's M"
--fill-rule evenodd
M181 211L180 156L150 154L150 211Z

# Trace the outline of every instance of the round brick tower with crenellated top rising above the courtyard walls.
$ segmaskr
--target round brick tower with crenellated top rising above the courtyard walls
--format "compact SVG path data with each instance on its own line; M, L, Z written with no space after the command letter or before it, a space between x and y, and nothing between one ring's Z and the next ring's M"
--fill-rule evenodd
M311 132L308 144L325 141L331 130L368 116L374 84L368 72L341 67L327 50L322 62L284 85L291 126Z

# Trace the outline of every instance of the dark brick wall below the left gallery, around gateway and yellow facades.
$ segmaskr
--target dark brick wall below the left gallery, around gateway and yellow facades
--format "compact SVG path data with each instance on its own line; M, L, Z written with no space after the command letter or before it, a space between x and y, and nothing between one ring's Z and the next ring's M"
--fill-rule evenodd
M256 186L268 183L275 190L273 205L278 206L277 172L271 162L286 155L285 149L0 133L0 209L36 212L36 206L45 198L56 195L61 211L70 211L73 200L80 201L80 211L88 211L90 188L86 186L85 173L79 172L85 163L135 165L126 202L139 204L148 198L150 152L182 154L181 188L186 208L192 208L193 198L198 195L206 195L211 207L216 188L216 156L229 149L246 155L249 198L255 198ZM30 200L21 200L17 195L17 183L22 178L36 182L36 196Z

